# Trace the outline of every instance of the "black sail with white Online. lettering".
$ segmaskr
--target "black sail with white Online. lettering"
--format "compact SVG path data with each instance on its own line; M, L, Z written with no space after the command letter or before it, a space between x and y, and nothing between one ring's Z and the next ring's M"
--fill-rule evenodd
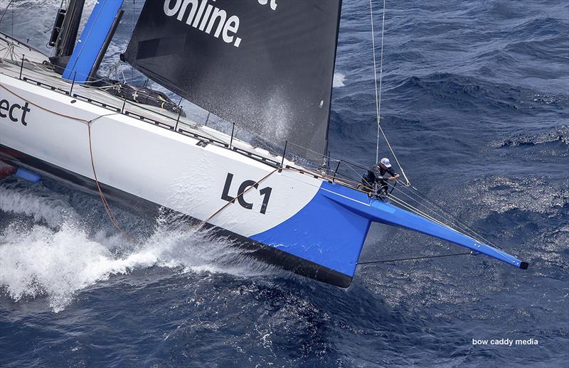
M147 1L122 56L227 121L324 153L340 10L341 0Z

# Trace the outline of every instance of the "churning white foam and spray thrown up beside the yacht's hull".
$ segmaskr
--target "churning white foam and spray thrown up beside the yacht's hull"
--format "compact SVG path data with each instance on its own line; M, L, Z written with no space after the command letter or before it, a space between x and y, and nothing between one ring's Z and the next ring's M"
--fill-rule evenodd
M84 288L152 266L236 276L274 273L271 266L238 257L243 251L230 247L227 239L212 239L206 231L183 225L179 215L162 215L144 242L127 244L120 235L90 235L78 222L61 217L61 208L69 210L61 195L38 195L28 188L6 188L6 183L0 193L0 211L23 213L35 221L52 219L47 222L59 225L36 223L29 228L14 222L0 233L0 286L14 301L47 297L58 312ZM51 206L53 197L59 207Z

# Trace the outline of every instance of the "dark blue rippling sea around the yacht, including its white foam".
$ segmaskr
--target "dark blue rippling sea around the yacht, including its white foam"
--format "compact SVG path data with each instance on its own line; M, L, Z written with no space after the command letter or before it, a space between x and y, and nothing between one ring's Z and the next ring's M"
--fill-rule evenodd
M45 50L59 1L14 3L0 30L14 19L14 36ZM141 6L127 4L102 65L139 82L115 63ZM113 208L137 239L125 242L96 197L8 178L0 366L567 367L569 4L387 6L382 124L405 172L527 271L483 256L362 265L343 290L250 261L167 212ZM330 147L375 159L366 1L344 1ZM361 260L459 250L377 225ZM473 344L502 338L537 344Z

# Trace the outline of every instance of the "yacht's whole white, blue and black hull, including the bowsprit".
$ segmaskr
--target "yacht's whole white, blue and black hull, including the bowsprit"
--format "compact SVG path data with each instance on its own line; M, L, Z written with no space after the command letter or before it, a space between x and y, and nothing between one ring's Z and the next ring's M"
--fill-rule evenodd
M36 65L43 55L26 50ZM48 70L0 64L0 158L184 213L286 269L347 287L371 222L414 229L513 266L514 256L331 183L186 119L75 86ZM101 102L102 101L102 102ZM116 107L121 107L117 109ZM181 134L182 133L182 134ZM280 163L284 162L284 166ZM275 164L276 163L276 164Z

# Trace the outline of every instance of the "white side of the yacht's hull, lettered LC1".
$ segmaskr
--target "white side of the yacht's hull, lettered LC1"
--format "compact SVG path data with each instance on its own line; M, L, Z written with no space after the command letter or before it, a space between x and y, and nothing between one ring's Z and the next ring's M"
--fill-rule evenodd
M209 219L245 237L292 217L312 200L321 183L297 171L272 173L272 166L240 153L214 144L198 146L200 139L13 77L0 75L0 85L1 99L21 106L28 102L31 110L26 126L1 120L0 144L94 180L85 122L93 121L90 140L100 183L198 220ZM234 203L220 210L228 204L222 199L228 173L233 174L228 192L232 197L245 180L257 182L269 175L260 183L260 189L272 188L265 213L264 196L257 189L243 195L252 209Z

